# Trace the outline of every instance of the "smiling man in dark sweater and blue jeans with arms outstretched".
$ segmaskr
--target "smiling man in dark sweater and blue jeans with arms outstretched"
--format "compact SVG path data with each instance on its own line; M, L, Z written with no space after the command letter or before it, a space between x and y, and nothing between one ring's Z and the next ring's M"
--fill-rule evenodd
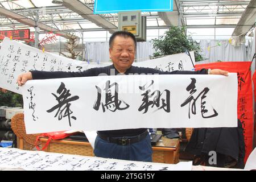
M117 31L109 40L109 55L113 65L102 68L92 68L83 72L42 72L31 71L18 77L18 84L21 86L27 80L65 78L65 77L85 77L98 76L101 73L110 75L110 69L114 70L115 75L123 73L145 73L145 74L214 74L228 76L228 72L220 69L200 71L174 71L162 72L152 68L133 67L136 51L136 39L133 34L125 31ZM122 122L122 121L120 121ZM150 135L147 129L126 129L98 131L94 146L94 154L103 158L114 158L123 160L137 160L152 162L152 148Z

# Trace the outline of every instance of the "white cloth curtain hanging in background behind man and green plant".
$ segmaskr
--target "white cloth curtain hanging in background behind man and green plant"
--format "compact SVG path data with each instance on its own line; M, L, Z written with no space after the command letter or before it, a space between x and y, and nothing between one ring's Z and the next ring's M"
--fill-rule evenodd
M220 42L221 46L217 46L217 43ZM209 62L215 62L218 60L221 61L250 61L251 56L254 54L253 44L249 43L246 47L245 44L234 47L229 44L228 40L222 41L207 41L201 40L200 47L202 49L202 55L209 60ZM208 51L208 47L210 51ZM216 47L213 47L216 46ZM253 50L253 51L252 51ZM147 60L150 56L153 55L155 49L151 42L138 42L137 43L137 55L136 61ZM90 62L100 63L109 61L109 42L88 42L85 44L85 60Z

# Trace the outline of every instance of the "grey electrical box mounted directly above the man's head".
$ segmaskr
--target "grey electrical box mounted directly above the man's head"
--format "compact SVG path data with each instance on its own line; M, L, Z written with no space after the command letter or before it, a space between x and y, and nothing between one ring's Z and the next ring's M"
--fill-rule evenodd
M138 42L146 41L146 16L141 11L119 12L118 30L133 33Z

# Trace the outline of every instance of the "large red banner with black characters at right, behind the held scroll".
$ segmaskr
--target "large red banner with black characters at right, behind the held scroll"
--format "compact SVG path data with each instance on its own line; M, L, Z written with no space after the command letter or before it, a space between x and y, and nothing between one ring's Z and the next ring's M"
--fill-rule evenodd
M196 69L223 69L237 73L238 99L237 115L243 126L245 139L245 163L251 151L253 151L253 89L251 86L251 62L217 62L209 64L197 64Z

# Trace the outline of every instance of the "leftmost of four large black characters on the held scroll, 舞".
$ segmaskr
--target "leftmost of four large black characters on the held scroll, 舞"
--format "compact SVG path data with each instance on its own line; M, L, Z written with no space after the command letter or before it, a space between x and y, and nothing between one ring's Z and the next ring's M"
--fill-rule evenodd
M52 111L57 109L57 113L54 117L56 117L58 114L58 119L61 120L62 117L68 117L69 126L71 126L70 119L75 119L76 117L72 116L73 113L70 109L71 104L69 102L73 102L79 99L79 96L73 96L71 97L71 93L69 93L69 90L65 88L65 84L61 82L60 87L57 89L57 94L60 94L60 96L56 96L54 93L52 95L56 98L58 101L58 104L53 106L51 109L47 110L48 113L51 113ZM68 98L69 97L69 98ZM64 111L64 115L63 115Z

